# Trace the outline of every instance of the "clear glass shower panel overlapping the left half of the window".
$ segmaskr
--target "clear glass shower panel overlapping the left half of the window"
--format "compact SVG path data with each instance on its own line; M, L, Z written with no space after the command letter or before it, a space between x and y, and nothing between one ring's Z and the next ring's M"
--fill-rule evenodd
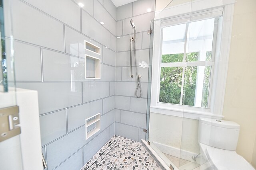
M180 166L184 111L181 99L183 99L184 83L182 82L185 78L184 64L186 64L186 53L184 52L186 36L188 36L186 23L190 20L190 18L186 18L185 22L182 20L181 23L177 23L177 15L170 12L172 8L180 6L180 3L184 2L170 0L166 4L166 8L156 12L154 21L152 21L152 25L154 23L154 34L150 36L150 55L153 56L153 68L156 67L154 66L156 62L154 59L159 58L159 56L161 58L159 59L160 65L157 66L159 67L159 89L152 89L151 91L154 93L159 90L156 103L170 105L170 108L156 109L156 104L152 103L154 100L151 98L151 103L149 103L151 107L147 112L147 118L149 119L147 119L148 136L146 136L146 139L150 142L150 147L162 158L166 164L165 166L174 170L178 170ZM185 3L190 6L190 0L186 0ZM160 8L160 5L156 4L156 8ZM159 9L156 9L156 11L159 11ZM190 13L190 10L187 12ZM167 65L162 66L162 64ZM155 73L156 70L152 70L153 76L155 76ZM155 88L155 86L152 86L152 88ZM179 109L175 109L176 106Z

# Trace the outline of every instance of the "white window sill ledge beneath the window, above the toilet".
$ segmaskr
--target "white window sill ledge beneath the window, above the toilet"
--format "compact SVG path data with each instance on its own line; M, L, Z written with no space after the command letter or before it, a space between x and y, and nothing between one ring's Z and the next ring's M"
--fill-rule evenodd
M177 109L160 106L150 106L150 112L196 120L198 120L199 117L206 117L212 119L222 119L224 117L223 115L216 115L206 111L194 111L188 109Z

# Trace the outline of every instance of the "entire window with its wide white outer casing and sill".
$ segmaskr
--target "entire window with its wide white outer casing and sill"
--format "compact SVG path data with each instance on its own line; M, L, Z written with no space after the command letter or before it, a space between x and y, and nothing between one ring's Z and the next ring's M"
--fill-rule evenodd
M195 0L156 13L151 112L223 117L234 3Z

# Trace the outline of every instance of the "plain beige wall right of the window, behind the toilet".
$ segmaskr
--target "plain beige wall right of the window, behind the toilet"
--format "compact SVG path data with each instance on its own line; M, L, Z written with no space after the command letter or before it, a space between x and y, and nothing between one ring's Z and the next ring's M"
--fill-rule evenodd
M237 0L234 7L225 120L241 126L238 154L256 168L256 0Z

